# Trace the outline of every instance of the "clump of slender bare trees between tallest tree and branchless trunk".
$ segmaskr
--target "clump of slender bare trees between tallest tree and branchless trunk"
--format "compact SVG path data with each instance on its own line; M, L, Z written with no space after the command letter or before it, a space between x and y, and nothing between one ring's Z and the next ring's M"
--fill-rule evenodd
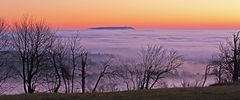
M51 49L52 66L55 69L57 84L55 92L59 90L63 80L65 93L74 92L76 69L82 53L82 46L78 35L67 40L57 38Z

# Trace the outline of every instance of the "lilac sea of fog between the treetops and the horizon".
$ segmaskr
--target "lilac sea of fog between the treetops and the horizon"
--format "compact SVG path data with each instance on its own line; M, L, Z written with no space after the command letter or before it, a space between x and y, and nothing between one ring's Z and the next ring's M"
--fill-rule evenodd
M221 42L231 38L237 30L204 29L136 29L136 30L57 30L59 38L79 35L89 52L110 53L127 58L136 57L147 45L161 45L184 55L180 70L202 73L208 59L218 52Z

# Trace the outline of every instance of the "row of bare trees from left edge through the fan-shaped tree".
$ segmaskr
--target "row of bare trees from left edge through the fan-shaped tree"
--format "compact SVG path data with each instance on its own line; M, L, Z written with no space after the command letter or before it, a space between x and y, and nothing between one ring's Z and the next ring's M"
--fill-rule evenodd
M82 47L78 35L59 38L44 21L29 16L11 26L1 19L0 36L0 80L21 82L25 93L151 89L183 64L175 50L158 45L143 48L133 62L97 57Z

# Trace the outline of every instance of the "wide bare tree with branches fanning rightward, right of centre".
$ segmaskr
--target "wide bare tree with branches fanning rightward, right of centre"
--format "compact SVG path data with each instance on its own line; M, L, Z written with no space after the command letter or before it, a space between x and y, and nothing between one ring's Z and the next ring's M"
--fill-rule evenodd
M163 49L162 46L150 45L140 52L140 67L143 75L140 89L151 89L164 75L177 70L182 64L182 56L175 50Z

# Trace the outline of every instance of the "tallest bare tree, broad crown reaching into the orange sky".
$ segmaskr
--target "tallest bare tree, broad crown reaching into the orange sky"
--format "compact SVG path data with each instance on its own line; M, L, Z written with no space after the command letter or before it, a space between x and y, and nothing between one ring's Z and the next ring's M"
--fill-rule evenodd
M44 56L54 42L54 33L43 21L24 17L12 29L13 48L21 61L21 77L25 93L34 93Z

